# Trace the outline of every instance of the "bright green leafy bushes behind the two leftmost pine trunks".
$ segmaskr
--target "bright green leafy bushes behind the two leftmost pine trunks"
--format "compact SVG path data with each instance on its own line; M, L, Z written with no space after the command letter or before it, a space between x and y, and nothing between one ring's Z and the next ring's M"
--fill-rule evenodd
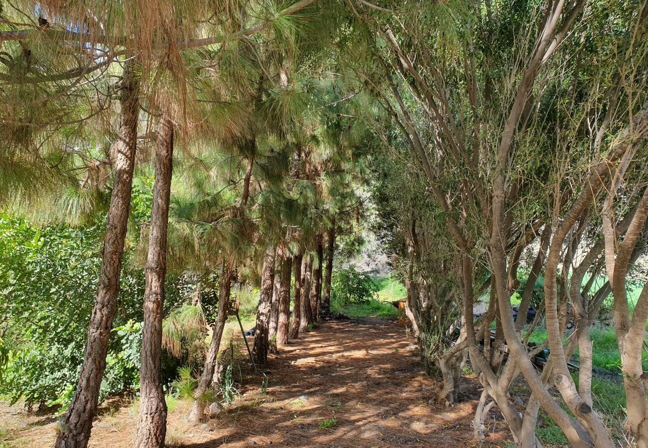
M83 361L95 302L102 222L71 228L0 218L0 293L8 352L1 392L10 403L67 405ZM126 253L101 396L139 385L144 276ZM178 287L168 287L168 303Z

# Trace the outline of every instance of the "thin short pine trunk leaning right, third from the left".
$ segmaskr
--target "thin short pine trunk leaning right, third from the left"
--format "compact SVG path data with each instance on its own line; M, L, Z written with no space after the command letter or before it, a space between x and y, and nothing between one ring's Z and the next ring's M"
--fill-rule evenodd
M220 341L223 337L225 322L227 321L227 309L229 308L229 295L232 287L232 277L234 269L229 262L224 262L220 278L218 279L218 316L216 324L213 326L211 342L205 357L205 366L198 387L194 392L194 404L189 413L189 420L202 421L205 416L205 408L211 403L204 399L205 392L209 390L214 383L214 374L216 374L216 362L218 359L218 350L220 350Z

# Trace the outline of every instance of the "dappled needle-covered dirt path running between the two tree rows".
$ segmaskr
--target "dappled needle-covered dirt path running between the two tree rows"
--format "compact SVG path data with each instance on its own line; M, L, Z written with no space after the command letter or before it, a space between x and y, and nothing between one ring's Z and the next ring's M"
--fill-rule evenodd
M191 434L174 429L170 442L185 448L269 442L285 447L472 445L474 400L451 409L430 405L436 385L408 348L414 342L391 321L327 322L270 360L265 394L258 385L248 386L218 420ZM330 428L322 427L327 423ZM502 443L503 434L493 436Z

